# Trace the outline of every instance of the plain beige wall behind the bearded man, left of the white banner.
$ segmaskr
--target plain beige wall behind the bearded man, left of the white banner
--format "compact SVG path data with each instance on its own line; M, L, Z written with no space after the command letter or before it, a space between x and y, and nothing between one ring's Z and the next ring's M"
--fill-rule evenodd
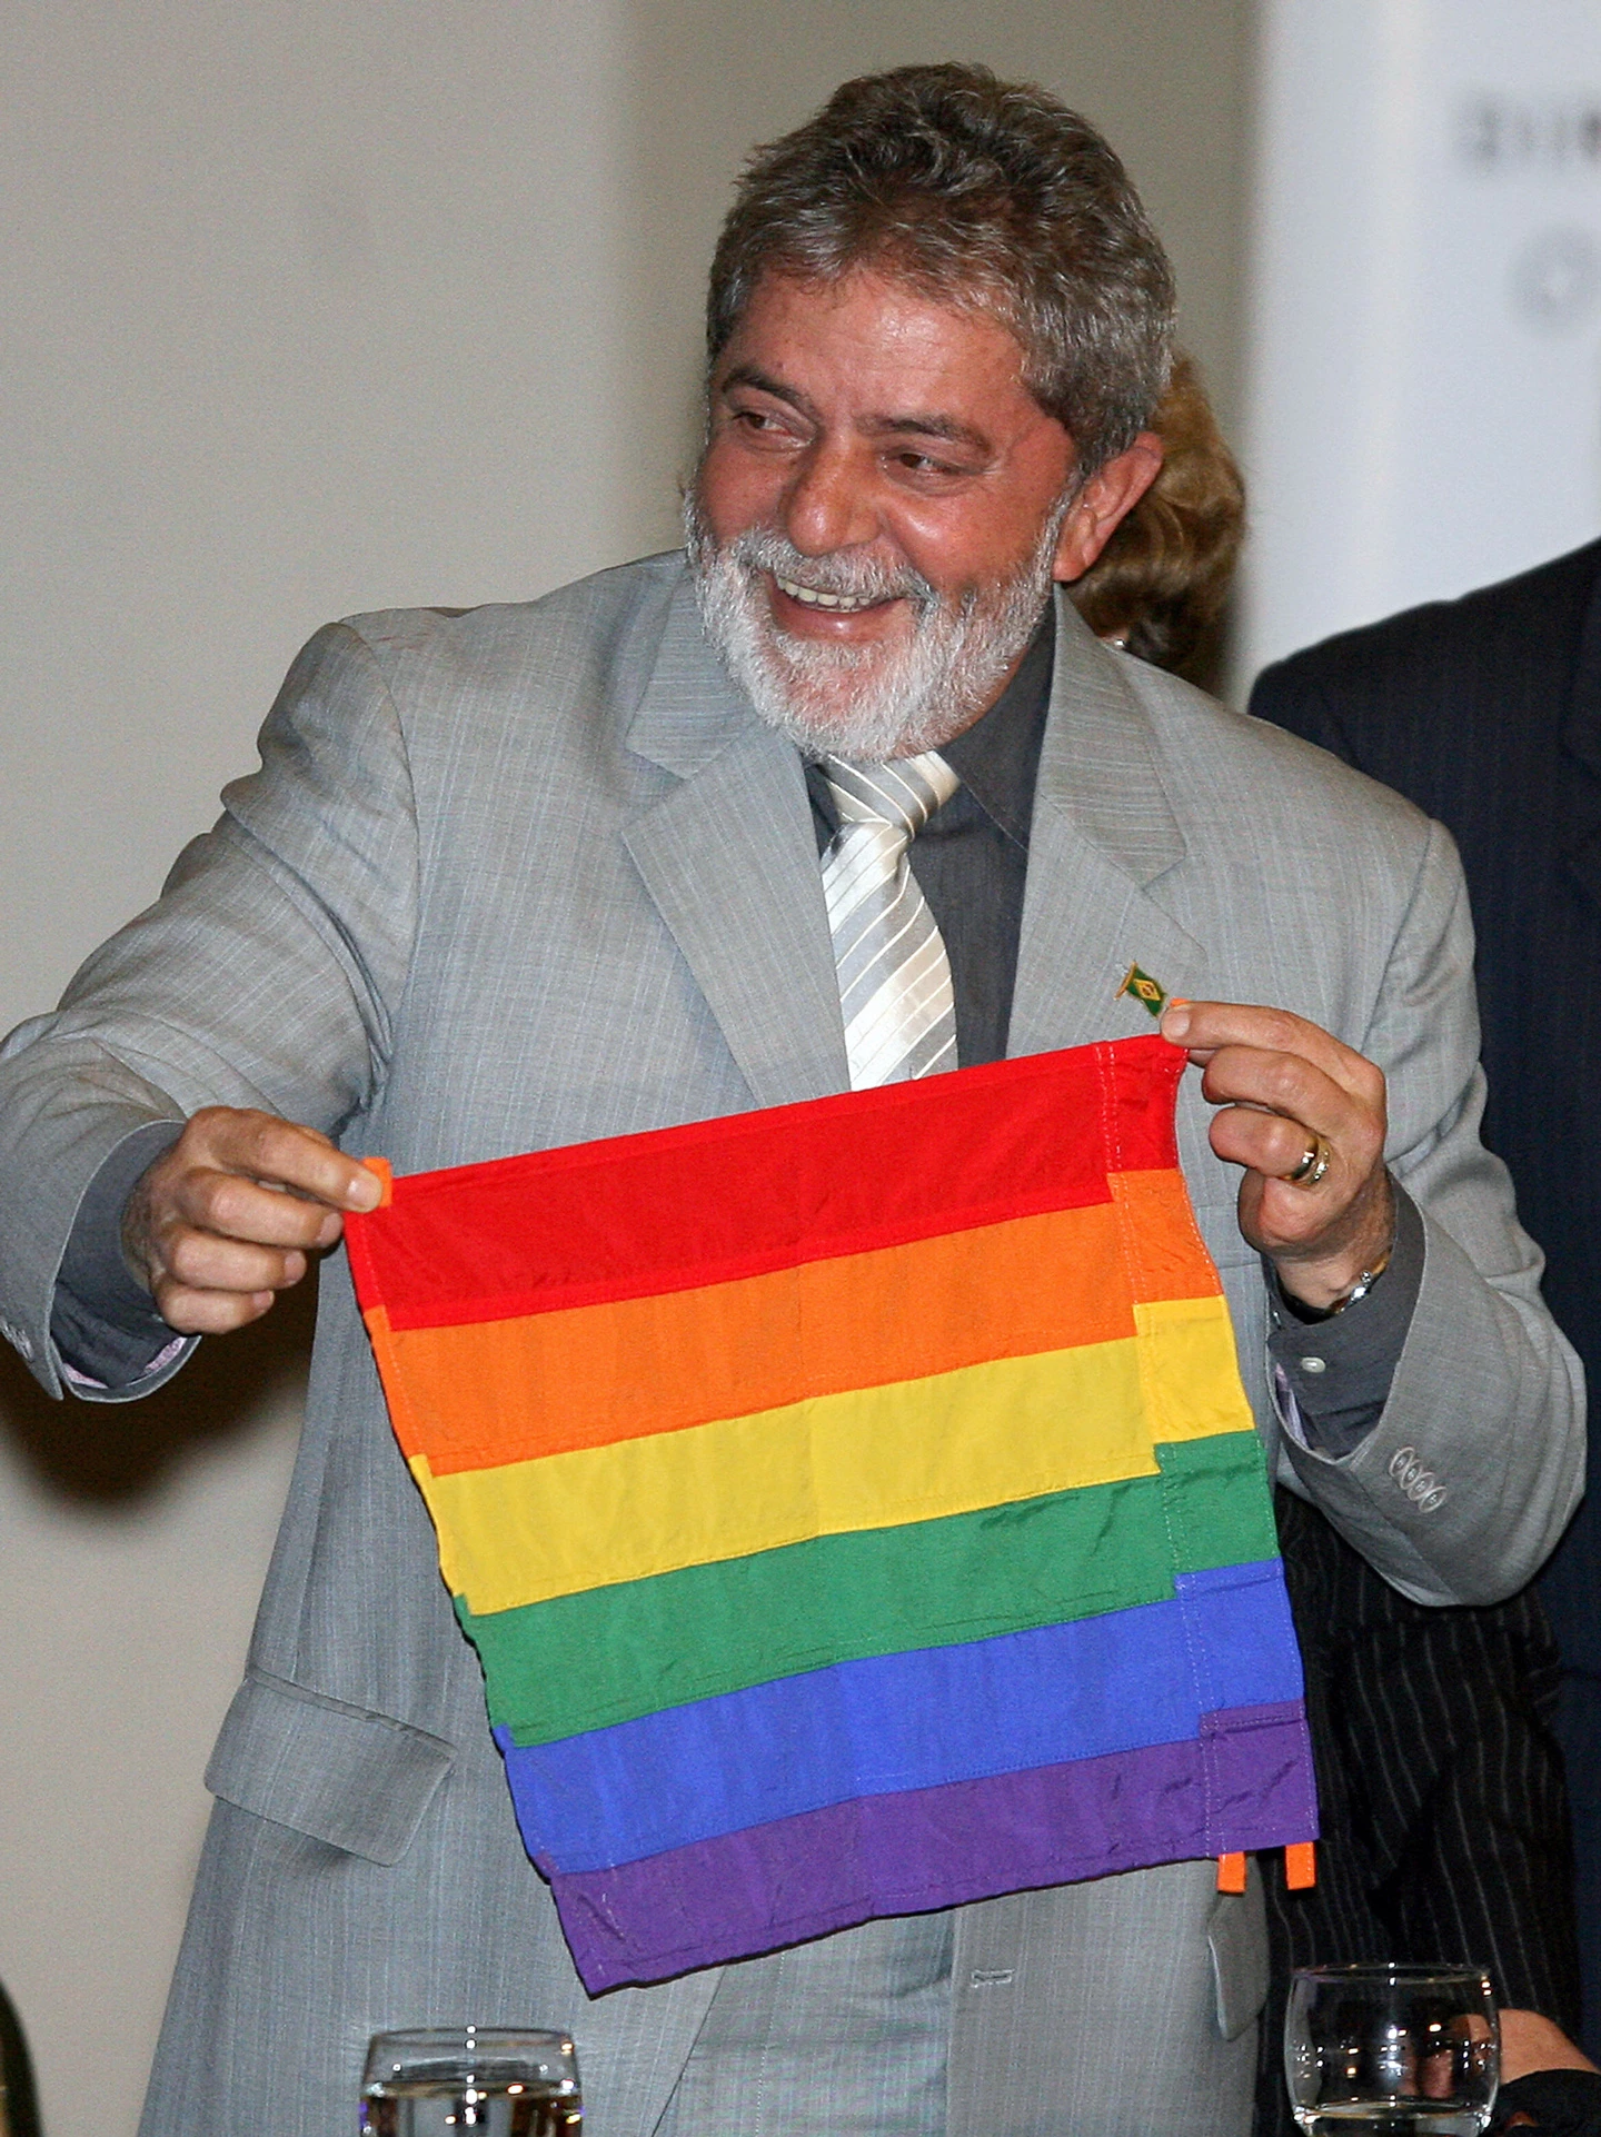
M671 541L740 152L985 58L1099 118L1238 380L1250 0L11 0L0 1030L150 900L327 615ZM0 1979L49 2137L130 2137L304 1314L137 1408L0 1355ZM86 2079L86 2073L88 2079Z

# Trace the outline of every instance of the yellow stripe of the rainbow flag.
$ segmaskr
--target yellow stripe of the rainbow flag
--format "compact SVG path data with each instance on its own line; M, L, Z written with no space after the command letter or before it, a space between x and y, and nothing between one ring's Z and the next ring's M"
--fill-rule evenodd
M1146 1333L1118 1342L502 1468L436 1477L417 1455L413 1470L445 1579L479 1616L808 1537L977 1513L996 1504L998 1477L1007 1500L1150 1477L1159 1440L1248 1428L1223 1299L1165 1301L1137 1319ZM1173 1363L1191 1374L1182 1417L1161 1415L1161 1400L1152 1417L1144 1351L1159 1355L1159 1376Z

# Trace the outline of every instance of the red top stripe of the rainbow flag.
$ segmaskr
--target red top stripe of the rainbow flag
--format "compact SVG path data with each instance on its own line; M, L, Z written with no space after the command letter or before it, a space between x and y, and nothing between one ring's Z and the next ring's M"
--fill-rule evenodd
M438 1327L733 1282L1109 1199L1173 1167L1156 1036L395 1180L346 1218L363 1304Z

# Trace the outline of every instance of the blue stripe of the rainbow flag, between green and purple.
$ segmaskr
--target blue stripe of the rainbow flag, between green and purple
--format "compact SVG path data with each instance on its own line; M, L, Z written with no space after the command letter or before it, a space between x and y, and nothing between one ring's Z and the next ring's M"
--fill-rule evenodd
M1206 1712L1300 1699L1276 1558L1176 1588L1171 1603L840 1663L554 1744L498 1729L524 1840L558 1872L603 1870L857 1795L1176 1744Z

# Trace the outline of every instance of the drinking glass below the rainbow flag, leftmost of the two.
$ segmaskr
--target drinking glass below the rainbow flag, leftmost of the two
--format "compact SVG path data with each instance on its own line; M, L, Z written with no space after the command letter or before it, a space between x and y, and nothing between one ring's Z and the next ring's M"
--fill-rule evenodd
M361 2073L366 2137L566 2137L584 2126L564 2032L430 2026L374 2032Z

